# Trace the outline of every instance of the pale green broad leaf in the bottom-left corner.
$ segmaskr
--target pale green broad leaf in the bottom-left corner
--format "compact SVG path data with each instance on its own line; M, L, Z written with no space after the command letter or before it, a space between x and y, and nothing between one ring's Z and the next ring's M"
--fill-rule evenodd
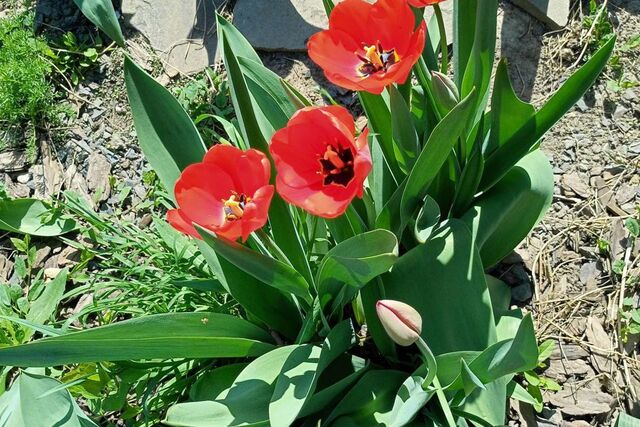
M64 384L21 372L0 396L0 425L5 427L98 427L80 409Z

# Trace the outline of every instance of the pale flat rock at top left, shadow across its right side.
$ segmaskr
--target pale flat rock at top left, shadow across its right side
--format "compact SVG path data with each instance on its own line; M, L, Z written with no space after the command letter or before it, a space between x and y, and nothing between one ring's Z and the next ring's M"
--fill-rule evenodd
M140 31L170 76L216 61L215 12L224 0L122 0L125 22Z

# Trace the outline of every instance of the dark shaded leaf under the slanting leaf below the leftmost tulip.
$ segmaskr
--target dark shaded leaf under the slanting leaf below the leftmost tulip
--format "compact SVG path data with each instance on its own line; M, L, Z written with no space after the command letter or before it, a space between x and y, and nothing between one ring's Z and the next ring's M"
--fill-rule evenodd
M295 339L300 326L300 314L292 299L260 280L245 273L224 257L219 257L204 241L198 241L200 252L222 286L246 311L273 330ZM277 307L277 309L274 309Z

